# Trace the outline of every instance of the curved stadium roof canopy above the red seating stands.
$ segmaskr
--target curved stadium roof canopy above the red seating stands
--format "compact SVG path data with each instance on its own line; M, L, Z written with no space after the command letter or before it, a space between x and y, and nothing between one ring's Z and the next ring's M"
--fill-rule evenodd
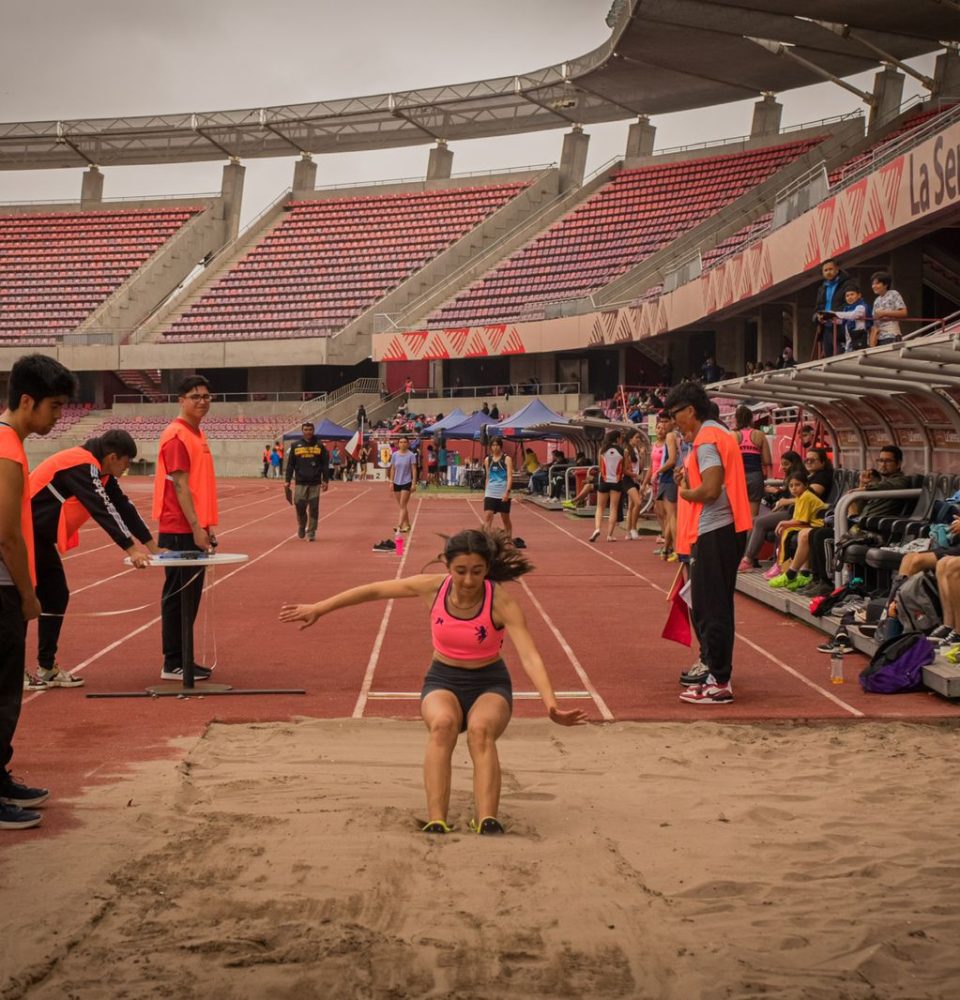
M956 39L957 9L956 0L617 0L610 38L559 65L284 107L0 124L0 169L353 152L710 107L932 52Z

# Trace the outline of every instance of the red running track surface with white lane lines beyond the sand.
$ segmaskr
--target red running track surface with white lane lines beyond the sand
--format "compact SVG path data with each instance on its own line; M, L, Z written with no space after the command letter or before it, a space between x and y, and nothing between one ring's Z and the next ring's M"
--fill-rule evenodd
M126 479L141 511L151 483ZM220 551L247 563L210 573L196 628L200 662L216 661L214 679L244 688L301 687L300 696L91 699L88 693L135 691L159 680L161 578L123 565L122 553L95 525L66 557L72 598L60 663L86 680L77 690L26 693L14 773L53 788L58 800L110 781L127 764L176 754L173 741L195 737L212 721L261 722L299 716L389 717L418 724L418 693L430 660L425 607L416 601L368 604L321 619L303 632L281 625L281 604L315 601L338 590L421 571L444 535L478 524L478 494L420 491L404 556L371 546L392 534L395 506L384 483L334 483L323 496L316 543L296 537L282 484L221 484ZM829 682L818 633L748 598L737 599L734 690L725 706L678 700L677 675L696 658L660 638L675 567L652 555L652 538L615 544L586 541L592 522L518 503L515 534L536 569L511 584L550 671L554 688L591 721L952 720L958 709L928 693L865 695L856 675L865 660L848 656L847 683ZM132 610L131 610L132 609ZM120 613L115 613L120 612ZM36 630L31 627L28 664ZM505 658L518 693L515 716L542 717L532 685L509 640ZM47 834L71 823L69 810L47 810ZM15 838L11 838L15 839Z

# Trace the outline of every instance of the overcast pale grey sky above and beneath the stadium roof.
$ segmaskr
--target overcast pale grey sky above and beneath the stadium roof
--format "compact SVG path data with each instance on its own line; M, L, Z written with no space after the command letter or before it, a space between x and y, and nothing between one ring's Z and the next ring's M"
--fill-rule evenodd
M8 0L0 121L257 108L522 73L600 45L610 0ZM914 60L931 72L933 57ZM872 74L851 82L872 89ZM919 84L908 77L905 96ZM780 95L793 125L857 109L820 84ZM743 135L752 101L654 119L657 148ZM622 154L628 122L590 126L588 171ZM451 144L454 172L550 163L562 132ZM428 147L318 157L318 185L422 176ZM293 159L250 160L244 221ZM223 164L112 167L104 197L217 191ZM0 172L0 201L77 200L81 170Z

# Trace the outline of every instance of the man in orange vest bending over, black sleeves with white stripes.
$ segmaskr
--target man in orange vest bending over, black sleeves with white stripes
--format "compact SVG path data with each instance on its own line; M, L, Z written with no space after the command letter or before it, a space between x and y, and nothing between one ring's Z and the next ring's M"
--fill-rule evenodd
M137 569L159 552L137 508L120 489L118 477L137 457L137 444L122 430L90 438L78 448L66 448L42 461L30 473L30 503L37 561L37 597L43 615L37 623L39 644L36 674L24 674L28 691L81 687L57 664L57 646L70 589L60 554L80 544L80 528L91 517L130 557Z

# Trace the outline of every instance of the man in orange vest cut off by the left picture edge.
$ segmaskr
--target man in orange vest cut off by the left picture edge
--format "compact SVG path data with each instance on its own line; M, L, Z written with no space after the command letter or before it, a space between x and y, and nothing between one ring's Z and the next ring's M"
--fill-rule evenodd
M7 769L23 702L27 622L40 616L23 442L53 430L75 387L59 361L27 355L10 371L7 408L0 414L0 830L38 826L35 807L50 795L14 781Z

